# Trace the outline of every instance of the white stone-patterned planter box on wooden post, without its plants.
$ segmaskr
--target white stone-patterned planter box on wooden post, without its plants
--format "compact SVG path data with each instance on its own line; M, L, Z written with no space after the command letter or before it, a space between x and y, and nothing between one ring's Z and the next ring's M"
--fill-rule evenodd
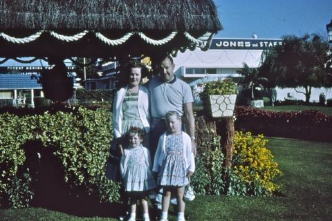
M212 117L232 117L237 95L210 95Z

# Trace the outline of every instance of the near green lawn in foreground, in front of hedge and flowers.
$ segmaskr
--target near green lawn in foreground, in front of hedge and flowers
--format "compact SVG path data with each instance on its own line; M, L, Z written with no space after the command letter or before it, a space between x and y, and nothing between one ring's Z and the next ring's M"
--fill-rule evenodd
M332 220L331 143L268 138L284 175L273 197L197 196L187 203L187 220ZM66 202L63 202L64 204ZM1 220L116 220L108 205L89 202L77 211L43 208L0 210ZM68 205L68 207L73 205ZM80 212L78 212L80 211ZM169 221L176 220L174 213Z

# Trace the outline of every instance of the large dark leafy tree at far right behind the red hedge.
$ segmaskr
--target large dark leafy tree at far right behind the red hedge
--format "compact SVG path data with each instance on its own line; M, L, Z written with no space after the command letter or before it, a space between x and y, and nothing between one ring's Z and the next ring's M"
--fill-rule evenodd
M270 87L295 88L303 93L308 103L311 88L332 86L331 68L328 62L329 44L317 34L283 37L282 45L275 46L264 55L259 73L269 79ZM329 70L330 69L330 70ZM303 87L305 92L299 91Z

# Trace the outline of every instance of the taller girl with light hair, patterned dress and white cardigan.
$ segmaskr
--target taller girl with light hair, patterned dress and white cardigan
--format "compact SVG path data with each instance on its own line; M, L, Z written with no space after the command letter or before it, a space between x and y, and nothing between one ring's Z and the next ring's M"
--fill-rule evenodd
M157 184L163 187L160 221L167 221L171 193L177 200L178 221L185 220L183 194L188 177L195 171L192 142L187 133L181 131L181 116L175 111L166 114L167 132L160 136L153 171L158 174Z

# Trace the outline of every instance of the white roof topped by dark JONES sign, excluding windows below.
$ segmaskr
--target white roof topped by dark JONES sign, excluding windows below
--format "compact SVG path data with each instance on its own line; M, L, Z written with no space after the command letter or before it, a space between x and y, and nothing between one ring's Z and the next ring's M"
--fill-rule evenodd
M174 57L176 68L250 68L261 64L263 50L282 44L282 39L212 39L210 49L185 50Z

